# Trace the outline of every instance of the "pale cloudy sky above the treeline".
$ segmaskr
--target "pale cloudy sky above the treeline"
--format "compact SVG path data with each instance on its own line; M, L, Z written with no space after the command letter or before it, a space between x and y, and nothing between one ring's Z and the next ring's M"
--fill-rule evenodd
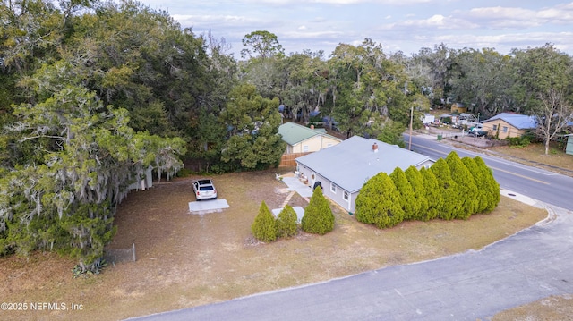
M570 0L140 0L167 11L195 35L224 38L240 58L241 40L256 30L275 34L286 55L324 51L364 38L387 54L449 48L511 49L550 43L573 55Z

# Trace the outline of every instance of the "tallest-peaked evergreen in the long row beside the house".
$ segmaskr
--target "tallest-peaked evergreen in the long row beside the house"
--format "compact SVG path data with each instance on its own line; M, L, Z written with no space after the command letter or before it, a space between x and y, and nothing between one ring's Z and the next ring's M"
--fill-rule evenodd
M478 191L475 185L474 176L469 172L466 165L459 159L455 151L451 151L446 157L451 178L458 186L458 199L461 201L461 208L455 217L466 220L470 215L477 213L479 200Z

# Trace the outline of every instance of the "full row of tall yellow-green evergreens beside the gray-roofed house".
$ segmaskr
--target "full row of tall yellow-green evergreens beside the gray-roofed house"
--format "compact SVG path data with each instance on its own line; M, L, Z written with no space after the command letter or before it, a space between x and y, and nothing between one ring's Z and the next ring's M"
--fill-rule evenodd
M403 221L467 219L488 213L500 202L500 185L479 156L459 158L452 151L429 169L379 173L356 197L356 220L379 228Z

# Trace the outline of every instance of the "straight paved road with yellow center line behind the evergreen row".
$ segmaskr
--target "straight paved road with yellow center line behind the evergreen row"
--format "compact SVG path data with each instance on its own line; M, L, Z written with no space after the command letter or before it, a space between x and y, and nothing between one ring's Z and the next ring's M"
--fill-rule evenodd
M406 136L406 144L408 136ZM480 152L455 148L448 143L434 139L412 136L412 149L433 159L448 156L456 150L458 156L481 156L485 164L493 169L493 176L505 190L513 190L533 199L541 199L545 203L573 210L571 192L573 178L558 173L552 173L532 166L526 166L508 160L488 156Z

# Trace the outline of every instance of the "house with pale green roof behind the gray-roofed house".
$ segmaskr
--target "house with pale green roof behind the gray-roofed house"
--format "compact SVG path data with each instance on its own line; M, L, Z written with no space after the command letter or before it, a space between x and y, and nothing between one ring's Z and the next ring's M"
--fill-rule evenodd
M326 133L295 122L286 122L278 127L278 133L286 142L285 154L308 153L337 145L342 141Z

